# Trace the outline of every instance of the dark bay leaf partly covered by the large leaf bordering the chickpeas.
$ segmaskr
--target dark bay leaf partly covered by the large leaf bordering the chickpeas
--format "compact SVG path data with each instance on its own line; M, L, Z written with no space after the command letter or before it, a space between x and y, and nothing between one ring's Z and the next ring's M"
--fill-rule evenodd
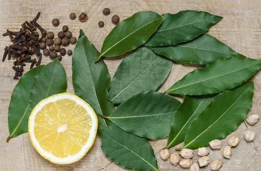
M185 96L183 103L174 113L166 148L169 149L184 141L190 124L209 105L213 98L214 95Z

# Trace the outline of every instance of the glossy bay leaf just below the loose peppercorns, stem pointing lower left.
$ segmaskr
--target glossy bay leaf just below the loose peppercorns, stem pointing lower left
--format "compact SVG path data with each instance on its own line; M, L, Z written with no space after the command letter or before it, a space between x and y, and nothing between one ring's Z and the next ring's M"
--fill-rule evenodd
M96 62L102 56L118 56L144 44L157 30L162 21L163 17L161 15L152 11L142 11L119 22L105 38L101 54Z

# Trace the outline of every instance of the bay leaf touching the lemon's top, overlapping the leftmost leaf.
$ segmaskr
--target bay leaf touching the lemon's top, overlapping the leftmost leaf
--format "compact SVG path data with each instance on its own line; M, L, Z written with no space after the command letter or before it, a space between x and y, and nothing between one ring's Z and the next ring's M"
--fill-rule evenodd
M64 66L56 58L46 64L35 77L30 93L31 110L41 100L58 93L66 92L67 81Z

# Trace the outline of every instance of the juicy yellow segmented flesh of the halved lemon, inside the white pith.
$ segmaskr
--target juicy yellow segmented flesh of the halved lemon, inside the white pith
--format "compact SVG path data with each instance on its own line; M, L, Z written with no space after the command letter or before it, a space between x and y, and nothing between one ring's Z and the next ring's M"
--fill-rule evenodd
M92 119L87 110L70 99L46 104L34 119L34 134L39 145L59 158L82 150L91 127Z

